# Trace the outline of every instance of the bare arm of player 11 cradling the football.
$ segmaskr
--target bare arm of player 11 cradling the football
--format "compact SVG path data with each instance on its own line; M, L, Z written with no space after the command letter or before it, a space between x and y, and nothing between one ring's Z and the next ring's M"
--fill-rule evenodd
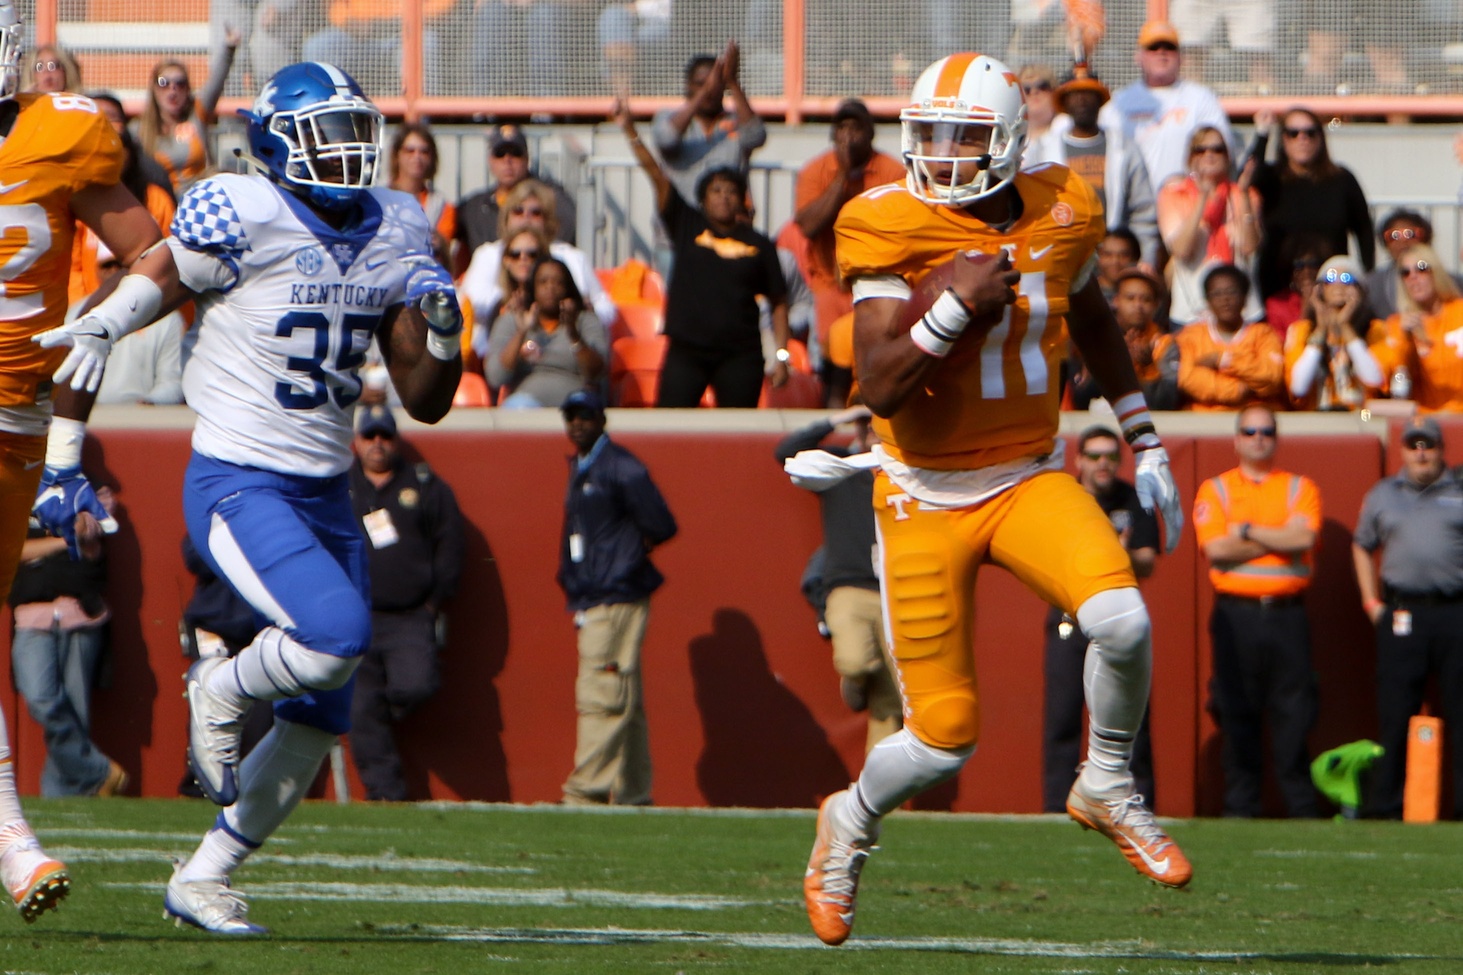
M960 328L952 344L979 343L1001 321L1005 306L1015 302L1015 285L1021 280L1021 272L1011 268L1005 253L999 259L983 261L957 253L949 266L949 294L958 302L949 309L949 315L954 315ZM944 300L944 296L936 297L925 315L939 318ZM870 297L853 306L859 388L875 416L892 416L944 362L944 354L932 354L928 345L922 347L916 341L922 319L916 318L913 324L909 321L919 310L917 305L910 307L911 302L916 299L901 302L892 297ZM954 324L945 318L933 328L948 334L944 329Z

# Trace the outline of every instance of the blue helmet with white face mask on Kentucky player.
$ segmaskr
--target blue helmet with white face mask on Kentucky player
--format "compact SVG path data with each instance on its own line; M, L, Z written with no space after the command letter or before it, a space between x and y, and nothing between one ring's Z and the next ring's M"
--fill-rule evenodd
M284 67L240 114L266 174L316 206L348 209L376 179L380 113L336 67Z

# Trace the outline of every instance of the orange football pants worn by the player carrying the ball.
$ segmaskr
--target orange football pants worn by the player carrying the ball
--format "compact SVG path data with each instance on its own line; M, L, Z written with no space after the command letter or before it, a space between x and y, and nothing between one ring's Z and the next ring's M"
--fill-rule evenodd
M936 748L969 748L980 736L973 634L982 564L1009 569L1069 613L1097 593L1138 584L1107 515L1067 473L1037 474L970 508L926 508L879 471L873 511L904 726Z

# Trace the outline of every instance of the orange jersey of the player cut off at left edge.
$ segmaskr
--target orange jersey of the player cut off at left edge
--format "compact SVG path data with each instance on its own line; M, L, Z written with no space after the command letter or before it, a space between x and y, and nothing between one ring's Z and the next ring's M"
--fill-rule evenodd
M76 217L70 199L121 177L123 148L91 98L16 95L0 143L0 407L31 406L66 348L32 335L66 318Z

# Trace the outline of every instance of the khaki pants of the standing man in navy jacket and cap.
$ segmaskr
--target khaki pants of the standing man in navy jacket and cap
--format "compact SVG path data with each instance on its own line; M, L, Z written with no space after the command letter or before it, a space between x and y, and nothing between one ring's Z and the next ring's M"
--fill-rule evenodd
M650 805L650 735L641 697L639 651L650 599L594 606L579 615L579 711L569 805Z

